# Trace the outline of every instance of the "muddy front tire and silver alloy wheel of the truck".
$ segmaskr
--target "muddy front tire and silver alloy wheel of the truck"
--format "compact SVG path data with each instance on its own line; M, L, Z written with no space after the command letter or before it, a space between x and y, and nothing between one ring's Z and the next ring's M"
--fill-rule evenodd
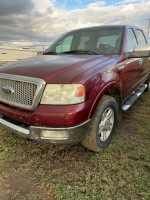
M86 138L82 141L86 148L99 152L106 148L113 137L118 116L115 99L104 95L92 117Z

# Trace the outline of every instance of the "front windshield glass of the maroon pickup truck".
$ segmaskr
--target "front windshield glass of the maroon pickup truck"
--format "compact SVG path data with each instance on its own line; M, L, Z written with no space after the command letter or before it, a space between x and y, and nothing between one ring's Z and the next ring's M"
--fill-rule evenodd
M122 27L100 27L71 31L60 37L45 54L119 55Z

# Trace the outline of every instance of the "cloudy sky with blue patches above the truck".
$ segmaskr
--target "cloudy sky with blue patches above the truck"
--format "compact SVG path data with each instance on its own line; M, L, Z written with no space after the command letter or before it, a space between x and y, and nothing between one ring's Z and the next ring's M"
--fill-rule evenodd
M0 44L49 45L66 31L111 24L147 33L147 19L147 0L0 0Z

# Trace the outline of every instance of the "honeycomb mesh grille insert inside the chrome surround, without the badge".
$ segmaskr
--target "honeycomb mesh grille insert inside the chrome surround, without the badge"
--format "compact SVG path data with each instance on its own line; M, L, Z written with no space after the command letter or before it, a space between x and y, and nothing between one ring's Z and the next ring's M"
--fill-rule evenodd
M14 92L5 93L3 91L5 86L12 88ZM12 103L32 106L36 89L37 85L33 83L0 78L0 97Z

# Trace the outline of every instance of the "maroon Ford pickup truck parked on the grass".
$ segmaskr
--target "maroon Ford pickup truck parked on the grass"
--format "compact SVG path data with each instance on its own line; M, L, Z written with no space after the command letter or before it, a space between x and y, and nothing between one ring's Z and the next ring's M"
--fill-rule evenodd
M0 68L0 124L33 142L107 147L117 120L149 90L150 45L140 28L62 35L44 55Z

